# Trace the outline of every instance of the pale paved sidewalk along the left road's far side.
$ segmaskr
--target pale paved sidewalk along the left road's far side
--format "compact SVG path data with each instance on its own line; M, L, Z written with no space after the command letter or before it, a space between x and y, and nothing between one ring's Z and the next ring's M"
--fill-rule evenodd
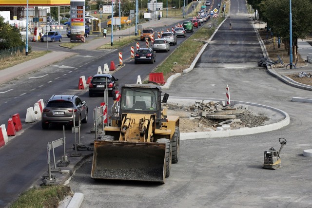
M149 28L149 27L164 27L166 25L170 25L172 23L182 22L183 19L173 19L173 18L162 18L160 21L149 21L141 24L143 28ZM130 28L130 33L135 33L135 26ZM103 36L100 36L101 38L94 38L89 40L87 38L87 42L82 43L76 47L73 48L73 50L96 50L99 45L104 45L106 43L111 42L110 34L107 34L108 36L106 39L103 38ZM129 29L120 30L118 33L119 36L127 36L129 35ZM115 38L115 34L114 34ZM17 64L15 66L9 67L4 70L0 70L0 84L3 84L9 80L15 79L16 77L23 76L29 72L33 72L36 70L39 70L40 68L43 68L45 66L48 66L50 64L56 63L60 60L63 60L65 58L78 55L78 53L72 53L72 52L57 52L53 51L49 54L46 54L42 57L38 57L20 64Z

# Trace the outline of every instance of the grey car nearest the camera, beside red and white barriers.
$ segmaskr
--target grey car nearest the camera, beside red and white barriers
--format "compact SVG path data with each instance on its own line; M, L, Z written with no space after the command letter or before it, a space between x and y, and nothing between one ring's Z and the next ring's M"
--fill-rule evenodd
M50 124L64 124L80 126L87 123L88 106L86 101L81 101L77 95L52 95L46 101L46 106L41 114L42 129L48 129Z

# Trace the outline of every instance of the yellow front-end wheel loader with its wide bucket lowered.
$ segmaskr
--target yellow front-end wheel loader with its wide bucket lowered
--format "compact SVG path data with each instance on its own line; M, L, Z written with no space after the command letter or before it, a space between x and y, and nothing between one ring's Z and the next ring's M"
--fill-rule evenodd
M105 135L94 141L93 179L165 183L180 151L179 117L167 115L161 87L127 84ZM114 99L114 98L113 98Z

